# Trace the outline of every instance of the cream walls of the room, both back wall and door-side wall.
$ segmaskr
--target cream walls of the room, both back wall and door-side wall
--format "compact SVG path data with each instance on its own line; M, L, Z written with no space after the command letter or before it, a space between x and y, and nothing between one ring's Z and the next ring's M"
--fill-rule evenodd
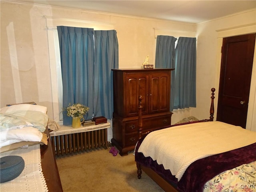
M120 68L140 68L147 55L150 56L149 62L154 64L155 30L196 33L197 108L174 112L172 123L189 115L208 118L210 89L215 87L218 93L221 37L218 37L216 30L255 24L256 20L255 10L194 25L13 2L1 1L0 5L0 106L34 101L47 106L50 118L53 116L53 108L58 104L52 99L48 34L44 16L114 26L118 36ZM250 99L255 101L255 92L254 96L250 95ZM251 103L249 105L249 108L253 108Z

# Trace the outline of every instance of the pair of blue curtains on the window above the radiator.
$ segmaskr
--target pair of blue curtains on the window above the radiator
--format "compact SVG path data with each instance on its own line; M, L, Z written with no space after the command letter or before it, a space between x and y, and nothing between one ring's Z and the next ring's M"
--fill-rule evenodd
M62 69L63 107L66 108L69 103L81 103L90 108L88 114L84 116L85 119L92 119L96 115L95 112L97 116L102 114L106 118L112 118L112 79L109 71L112 67L118 68L116 31L111 30L110 35L102 35L102 37L99 35L100 32L97 32L96 37L96 31L92 28L57 26L57 30ZM108 34L108 32L102 33ZM112 38L109 38L111 33ZM63 114L63 124L72 124L72 118L66 116L66 113Z

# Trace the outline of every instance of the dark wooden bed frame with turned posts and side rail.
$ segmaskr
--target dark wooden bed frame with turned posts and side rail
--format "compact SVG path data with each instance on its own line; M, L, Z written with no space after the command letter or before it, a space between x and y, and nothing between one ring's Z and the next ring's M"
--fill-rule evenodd
M214 119L214 92L215 88L211 89L212 96L211 96L211 106L210 106L210 118L200 120L199 122L206 122L206 121L213 121ZM139 105L138 105L138 138L142 138L142 96L139 96ZM172 186L168 181L166 181L164 178L162 178L159 174L157 174L154 170L151 168L145 167L141 165L140 163L136 162L137 166L137 174L138 179L141 178L142 170L150 177L152 180L154 180L164 191L166 192L178 192L176 189L176 186Z

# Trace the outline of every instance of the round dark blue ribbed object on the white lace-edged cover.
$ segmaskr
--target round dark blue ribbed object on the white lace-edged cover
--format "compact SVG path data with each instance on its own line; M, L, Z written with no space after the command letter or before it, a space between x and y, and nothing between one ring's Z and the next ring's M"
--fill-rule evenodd
M24 170L25 162L20 156L5 156L0 158L0 183L18 177Z

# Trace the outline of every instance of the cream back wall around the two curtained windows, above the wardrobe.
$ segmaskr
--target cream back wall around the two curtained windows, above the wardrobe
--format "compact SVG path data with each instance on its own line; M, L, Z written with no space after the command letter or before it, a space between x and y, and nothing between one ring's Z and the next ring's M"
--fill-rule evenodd
M154 28L195 30L193 24L1 1L1 107L34 101L47 106L50 117L53 108L58 107L52 99L44 16L114 26L120 68L140 68L147 55L154 63Z

